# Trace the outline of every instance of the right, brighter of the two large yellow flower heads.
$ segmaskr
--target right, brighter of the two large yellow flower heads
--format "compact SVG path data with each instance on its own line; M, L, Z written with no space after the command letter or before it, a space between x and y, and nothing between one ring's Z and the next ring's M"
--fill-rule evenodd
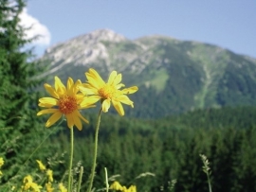
M91 95L90 97L94 98L95 102L101 99L103 112L108 112L111 102L121 116L124 115L121 103L134 107L134 102L126 95L136 93L137 86L120 90L124 84L120 83L121 74L117 71L110 74L107 82L104 82L97 71L92 68L85 73L85 76L88 81L80 86L80 90L85 96Z

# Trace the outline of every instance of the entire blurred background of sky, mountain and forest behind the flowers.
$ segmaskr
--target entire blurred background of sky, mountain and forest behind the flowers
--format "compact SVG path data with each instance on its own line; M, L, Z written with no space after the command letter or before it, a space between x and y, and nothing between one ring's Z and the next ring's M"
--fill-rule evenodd
M44 83L113 70L138 92L101 117L95 191L256 191L256 1L0 0L0 191L30 174L66 185L69 129L37 116ZM34 39L34 37L38 37ZM74 186L87 188L100 103L75 130ZM115 177L112 177L115 176Z

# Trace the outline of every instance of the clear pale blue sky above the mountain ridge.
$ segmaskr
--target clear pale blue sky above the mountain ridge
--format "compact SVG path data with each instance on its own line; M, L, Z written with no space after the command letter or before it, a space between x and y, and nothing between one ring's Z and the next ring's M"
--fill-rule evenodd
M219 45L256 58L255 0L28 0L27 15L44 26L36 53L109 28L134 40L165 35ZM45 32L44 32L45 31Z

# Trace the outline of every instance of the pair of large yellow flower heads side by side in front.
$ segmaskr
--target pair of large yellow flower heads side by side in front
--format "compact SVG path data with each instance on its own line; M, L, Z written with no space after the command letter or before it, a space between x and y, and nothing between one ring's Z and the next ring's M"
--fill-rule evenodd
M82 116L80 110L95 107L94 104L99 100L104 113L108 112L111 103L120 115L124 115L121 103L134 107L134 102L126 95L137 92L137 86L121 90L124 84L120 83L121 74L117 71L110 74L107 82L102 80L98 72L92 68L85 73L85 76L86 83L82 83L80 79L74 82L69 78L65 87L61 79L55 77L54 88L45 84L47 93L52 97L39 99L39 106L47 109L37 115L52 113L46 122L46 127L50 127L64 115L68 128L76 126L81 131L81 119L85 123L88 123L88 120Z

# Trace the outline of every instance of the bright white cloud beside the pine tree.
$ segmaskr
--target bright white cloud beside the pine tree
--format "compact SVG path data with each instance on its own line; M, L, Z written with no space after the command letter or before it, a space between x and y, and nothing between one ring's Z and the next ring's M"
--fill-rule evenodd
M37 35L40 37L32 44L48 45L50 44L50 32L46 26L41 24L36 18L27 13L27 9L24 9L20 14L21 25L25 27L31 27L26 31L27 39L33 38Z

